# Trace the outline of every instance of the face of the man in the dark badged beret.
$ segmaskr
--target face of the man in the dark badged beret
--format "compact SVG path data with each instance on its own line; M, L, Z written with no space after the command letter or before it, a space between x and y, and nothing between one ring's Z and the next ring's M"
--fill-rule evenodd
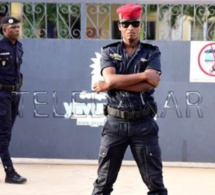
M3 26L4 35L13 41L19 38L19 30L19 24L9 24Z

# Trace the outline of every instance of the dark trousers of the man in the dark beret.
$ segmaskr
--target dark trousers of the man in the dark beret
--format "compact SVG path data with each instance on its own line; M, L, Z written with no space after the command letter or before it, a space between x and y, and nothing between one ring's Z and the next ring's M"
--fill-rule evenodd
M0 156L4 168L13 167L9 144L19 109L20 94L0 91Z

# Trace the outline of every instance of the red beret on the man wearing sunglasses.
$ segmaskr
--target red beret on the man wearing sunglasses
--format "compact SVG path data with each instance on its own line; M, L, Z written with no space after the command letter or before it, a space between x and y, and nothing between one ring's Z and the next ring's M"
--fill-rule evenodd
M119 14L119 20L137 20L141 18L142 6L127 4L119 7L116 12Z

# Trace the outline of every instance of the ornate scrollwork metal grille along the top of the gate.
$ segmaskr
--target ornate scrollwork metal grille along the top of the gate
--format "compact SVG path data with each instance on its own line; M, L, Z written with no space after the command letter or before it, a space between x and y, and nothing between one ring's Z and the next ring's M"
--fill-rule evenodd
M17 16L22 21L22 38L120 39L116 9L122 2L118 2L7 1L0 3L0 18ZM141 39L215 40L215 5L171 2L136 2L143 6Z

